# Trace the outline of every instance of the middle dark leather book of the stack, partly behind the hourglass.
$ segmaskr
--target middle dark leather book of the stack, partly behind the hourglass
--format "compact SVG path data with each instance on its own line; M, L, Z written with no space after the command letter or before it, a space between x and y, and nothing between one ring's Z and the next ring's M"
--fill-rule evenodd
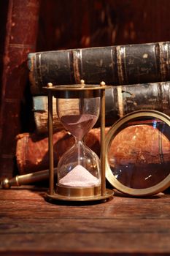
M72 108L72 106L68 106ZM33 96L36 132L47 133L47 96ZM158 110L170 115L170 82L141 83L128 86L113 86L106 90L106 125L135 110ZM96 127L99 125L96 124ZM56 113L53 97L53 128L63 129Z

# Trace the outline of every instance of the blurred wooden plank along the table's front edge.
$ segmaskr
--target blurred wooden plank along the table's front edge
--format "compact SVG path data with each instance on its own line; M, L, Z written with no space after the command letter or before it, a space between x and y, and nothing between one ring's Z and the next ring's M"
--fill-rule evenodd
M2 236L0 237L2 238ZM13 252L105 252L169 253L169 237L158 233L23 233L4 235L1 253Z

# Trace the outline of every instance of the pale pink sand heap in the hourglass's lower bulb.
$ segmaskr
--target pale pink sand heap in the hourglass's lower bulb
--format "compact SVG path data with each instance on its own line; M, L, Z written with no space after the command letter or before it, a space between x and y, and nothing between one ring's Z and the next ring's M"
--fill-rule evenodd
M89 173L82 165L77 165L60 180L60 184L68 187L98 186L98 178Z

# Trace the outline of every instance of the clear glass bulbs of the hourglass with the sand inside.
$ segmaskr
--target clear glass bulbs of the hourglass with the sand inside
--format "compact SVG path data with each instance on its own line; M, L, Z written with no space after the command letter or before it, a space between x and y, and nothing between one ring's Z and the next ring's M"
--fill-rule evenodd
M58 184L66 187L96 187L100 185L100 160L83 142L84 136L96 124L100 98L57 99L57 113L63 127L75 138L75 143L58 162Z

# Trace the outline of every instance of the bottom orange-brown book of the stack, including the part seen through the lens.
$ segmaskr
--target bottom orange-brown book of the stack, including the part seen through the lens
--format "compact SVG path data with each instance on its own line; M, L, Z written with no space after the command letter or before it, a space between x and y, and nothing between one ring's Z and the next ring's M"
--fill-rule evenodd
M106 134L109 127L105 128ZM136 135L136 140L129 140ZM74 138L69 132L56 132L53 135L54 165L74 144ZM85 144L98 157L100 155L100 129L93 128L85 136ZM109 156L114 157L114 165L151 165L160 169L162 163L170 161L170 143L159 129L149 124L132 125L123 129L112 141L109 147ZM134 150L135 149L135 150ZM37 134L20 134L17 138L16 158L20 174L31 173L37 170L46 170L49 167L48 140ZM169 171L169 169L168 169Z

